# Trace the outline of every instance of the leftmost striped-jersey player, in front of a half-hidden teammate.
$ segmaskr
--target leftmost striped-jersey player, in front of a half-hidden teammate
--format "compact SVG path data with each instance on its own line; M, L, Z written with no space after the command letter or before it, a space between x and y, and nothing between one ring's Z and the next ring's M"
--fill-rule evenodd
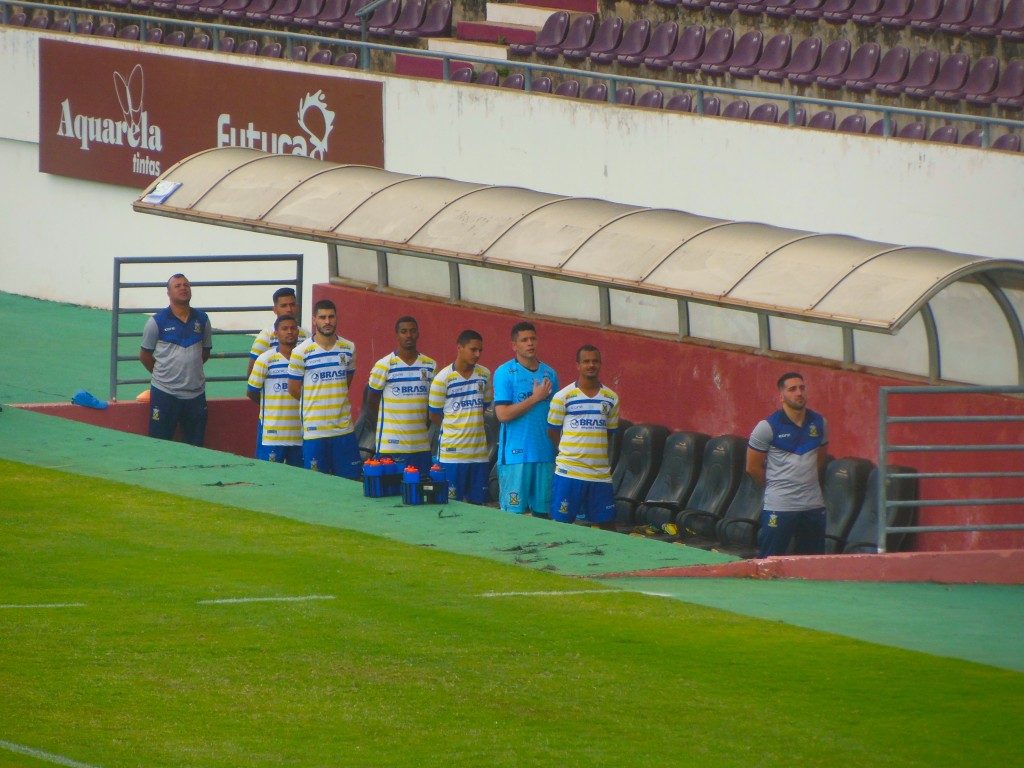
M249 399L259 403L256 458L302 466L302 418L299 403L288 392L288 366L299 338L295 317L283 315L273 324L278 344L253 361Z

